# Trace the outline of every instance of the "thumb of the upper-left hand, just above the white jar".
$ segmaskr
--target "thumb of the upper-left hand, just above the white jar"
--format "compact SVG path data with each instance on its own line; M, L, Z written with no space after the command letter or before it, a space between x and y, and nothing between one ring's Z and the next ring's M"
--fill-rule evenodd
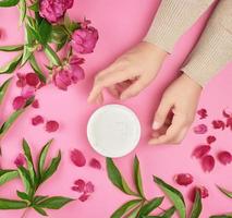
M137 78L132 85L130 85L120 96L122 100L134 97L138 95L146 86L148 82L145 82L143 78Z

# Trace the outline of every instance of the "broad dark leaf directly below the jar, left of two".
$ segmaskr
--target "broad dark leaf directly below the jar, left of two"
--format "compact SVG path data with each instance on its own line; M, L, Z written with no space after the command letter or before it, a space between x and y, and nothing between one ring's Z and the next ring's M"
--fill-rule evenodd
M119 169L117 168L111 158L107 158L107 172L110 181L122 192L129 195L137 196L137 194L129 187L126 181L124 180L124 178L122 177L122 174L120 173Z

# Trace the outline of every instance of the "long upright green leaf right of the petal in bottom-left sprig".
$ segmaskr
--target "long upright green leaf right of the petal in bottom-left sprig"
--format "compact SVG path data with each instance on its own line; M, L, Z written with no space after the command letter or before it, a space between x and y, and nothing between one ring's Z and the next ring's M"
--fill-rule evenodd
M32 157L29 145L25 138L23 138L23 150L24 150L24 155L26 157L27 168L28 168L32 183L35 184L35 183L37 183L36 170L35 170L34 164L33 164L33 157Z

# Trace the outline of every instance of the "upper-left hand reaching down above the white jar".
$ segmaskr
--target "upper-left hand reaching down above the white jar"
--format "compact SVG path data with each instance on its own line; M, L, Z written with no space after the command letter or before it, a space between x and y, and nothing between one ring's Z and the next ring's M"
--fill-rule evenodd
M103 88L120 99L136 96L156 77L167 55L152 44L138 44L97 74L88 101L102 104Z

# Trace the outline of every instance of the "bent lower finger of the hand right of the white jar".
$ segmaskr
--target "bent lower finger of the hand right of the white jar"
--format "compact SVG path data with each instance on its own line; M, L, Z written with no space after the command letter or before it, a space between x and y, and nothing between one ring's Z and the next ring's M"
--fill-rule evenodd
M166 134L157 138L151 138L149 141L149 144L158 145L158 144L175 143L178 140L181 140L181 136L184 135L182 132L184 132L185 130L186 125L184 119L181 116L174 116L173 122L167 130Z

